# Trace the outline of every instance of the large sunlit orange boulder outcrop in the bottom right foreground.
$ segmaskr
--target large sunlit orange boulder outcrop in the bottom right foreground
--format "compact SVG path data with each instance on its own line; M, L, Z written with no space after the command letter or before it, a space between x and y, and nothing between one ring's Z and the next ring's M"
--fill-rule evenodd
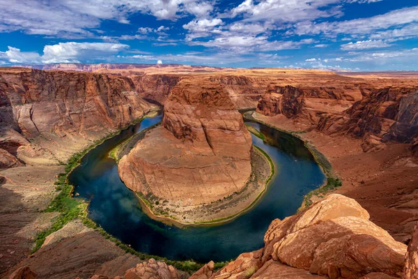
M406 253L354 199L336 194L274 220L264 243L262 250L242 254L206 277L391 278L401 276Z

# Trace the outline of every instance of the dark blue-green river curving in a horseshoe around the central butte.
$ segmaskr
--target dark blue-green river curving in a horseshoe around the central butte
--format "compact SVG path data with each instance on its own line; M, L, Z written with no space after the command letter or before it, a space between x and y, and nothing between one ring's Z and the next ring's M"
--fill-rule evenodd
M252 135L276 166L268 190L247 213L222 225L178 228L152 220L141 211L137 197L118 176L109 151L134 133L161 121L146 118L89 151L68 177L75 195L87 199L88 217L109 234L139 252L169 259L206 263L235 259L242 252L263 247L263 236L274 218L293 215L304 195L323 184L325 175L296 137L261 123L246 121L260 130L265 141Z

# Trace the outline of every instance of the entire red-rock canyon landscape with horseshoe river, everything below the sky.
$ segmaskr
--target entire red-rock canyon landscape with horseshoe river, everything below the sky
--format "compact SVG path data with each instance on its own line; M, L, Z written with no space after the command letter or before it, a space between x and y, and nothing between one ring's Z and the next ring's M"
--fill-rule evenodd
M38 68L0 68L1 276L417 277L415 72Z

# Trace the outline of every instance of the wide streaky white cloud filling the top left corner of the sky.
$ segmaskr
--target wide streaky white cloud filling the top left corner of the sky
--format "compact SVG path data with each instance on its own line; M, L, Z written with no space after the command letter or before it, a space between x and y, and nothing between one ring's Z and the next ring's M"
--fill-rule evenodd
M176 20L182 15L201 17L213 9L205 0L0 0L0 6L0 31L60 38L91 37L91 29L100 27L102 20L128 24L134 13Z

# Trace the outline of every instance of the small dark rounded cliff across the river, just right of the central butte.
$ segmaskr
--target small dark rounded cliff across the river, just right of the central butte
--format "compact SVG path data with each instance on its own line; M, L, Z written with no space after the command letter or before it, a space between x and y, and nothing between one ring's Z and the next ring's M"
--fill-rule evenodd
M304 93L293 86L277 86L274 93L263 95L258 101L257 112L266 116L284 114L291 118L304 109Z

